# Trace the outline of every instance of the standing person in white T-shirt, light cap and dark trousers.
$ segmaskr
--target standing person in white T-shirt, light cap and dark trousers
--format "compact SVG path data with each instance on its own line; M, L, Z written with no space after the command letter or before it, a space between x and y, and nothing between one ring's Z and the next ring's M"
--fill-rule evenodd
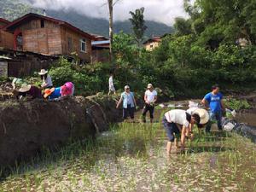
M146 114L149 111L150 122L154 119L154 102L157 100L157 92L154 90L153 84L148 84L148 90L144 95L143 122L146 123Z

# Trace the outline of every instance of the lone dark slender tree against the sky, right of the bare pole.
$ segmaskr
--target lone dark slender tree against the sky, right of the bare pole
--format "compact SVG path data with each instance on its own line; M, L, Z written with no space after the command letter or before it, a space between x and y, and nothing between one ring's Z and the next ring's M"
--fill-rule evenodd
M131 21L132 30L136 37L137 44L139 46L143 42L144 32L147 29L147 26L145 26L143 13L144 13L144 8L136 9L135 12L130 11L131 18L129 19Z

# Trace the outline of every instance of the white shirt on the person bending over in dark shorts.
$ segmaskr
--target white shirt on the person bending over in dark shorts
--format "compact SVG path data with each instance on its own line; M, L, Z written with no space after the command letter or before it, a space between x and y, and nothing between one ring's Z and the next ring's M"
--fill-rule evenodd
M166 119L170 123L184 125L189 127L189 121L187 120L186 111L182 109L173 109L165 113Z

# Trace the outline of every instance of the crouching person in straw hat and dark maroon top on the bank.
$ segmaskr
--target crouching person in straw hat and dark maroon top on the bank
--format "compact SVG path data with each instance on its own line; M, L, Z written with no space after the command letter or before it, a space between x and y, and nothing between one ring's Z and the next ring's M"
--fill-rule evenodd
M28 96L31 99L42 98L42 91L34 85L22 84L20 90L14 90L14 95L17 99Z

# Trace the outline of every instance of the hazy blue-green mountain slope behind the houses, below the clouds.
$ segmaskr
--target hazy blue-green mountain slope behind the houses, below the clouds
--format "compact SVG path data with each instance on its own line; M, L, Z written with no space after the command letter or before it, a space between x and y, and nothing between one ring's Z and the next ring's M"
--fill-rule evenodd
M7 20L15 20L16 18L26 15L27 13L42 14L43 10L34 9L27 3L22 3L22 0L1 0L0 1L0 17ZM95 34L108 36L108 20L92 18L86 15L80 15L73 11L64 12L61 10L47 10L47 15L60 20L65 20L73 26L77 26L84 30ZM172 32L172 27L166 26L163 23L146 20L146 36L160 36L165 33ZM114 23L114 32L131 33L131 23L129 20L117 21Z

